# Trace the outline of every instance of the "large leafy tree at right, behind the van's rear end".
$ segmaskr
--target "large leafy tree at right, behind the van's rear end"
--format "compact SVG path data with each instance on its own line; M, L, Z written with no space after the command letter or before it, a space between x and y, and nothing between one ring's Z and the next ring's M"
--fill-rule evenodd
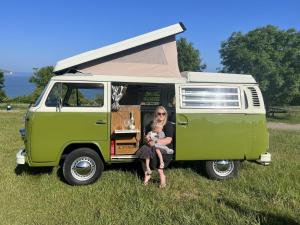
M268 25L234 32L220 49L222 72L251 74L266 106L287 105L300 95L300 33Z

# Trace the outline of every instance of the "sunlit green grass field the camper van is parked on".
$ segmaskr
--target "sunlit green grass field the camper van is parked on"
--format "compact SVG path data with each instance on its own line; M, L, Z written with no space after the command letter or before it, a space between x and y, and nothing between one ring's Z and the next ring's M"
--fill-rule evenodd
M271 131L272 164L244 162L228 181L181 163L166 170L166 189L145 187L134 164L110 166L95 184L72 187L58 168L16 168L23 114L0 111L1 225L300 224L299 132Z

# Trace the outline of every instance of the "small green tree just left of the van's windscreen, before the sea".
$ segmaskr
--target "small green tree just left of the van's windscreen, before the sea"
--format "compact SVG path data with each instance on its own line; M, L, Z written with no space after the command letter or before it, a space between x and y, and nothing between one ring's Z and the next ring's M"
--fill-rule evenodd
M51 77L55 76L55 74L53 73L53 69L53 66L46 66L40 69L33 69L33 75L29 79L29 82L34 83L36 86L36 89L31 95L32 101L35 101L40 96L41 92L48 84Z

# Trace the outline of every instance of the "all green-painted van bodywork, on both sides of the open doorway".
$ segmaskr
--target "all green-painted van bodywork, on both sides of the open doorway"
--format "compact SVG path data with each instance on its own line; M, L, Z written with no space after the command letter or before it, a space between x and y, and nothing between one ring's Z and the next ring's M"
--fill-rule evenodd
M106 123L95 123L98 120ZM57 166L71 145L93 146L106 163L132 161L111 159L110 127L108 109L101 113L28 110L26 162L29 166ZM263 113L176 113L178 161L257 160L267 151L268 140Z

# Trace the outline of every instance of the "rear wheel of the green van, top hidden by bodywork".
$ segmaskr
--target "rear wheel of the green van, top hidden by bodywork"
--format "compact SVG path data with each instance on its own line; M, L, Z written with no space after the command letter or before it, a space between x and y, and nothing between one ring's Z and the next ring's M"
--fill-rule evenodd
M226 180L238 173L239 161L213 160L205 162L205 170L209 178L214 180Z

